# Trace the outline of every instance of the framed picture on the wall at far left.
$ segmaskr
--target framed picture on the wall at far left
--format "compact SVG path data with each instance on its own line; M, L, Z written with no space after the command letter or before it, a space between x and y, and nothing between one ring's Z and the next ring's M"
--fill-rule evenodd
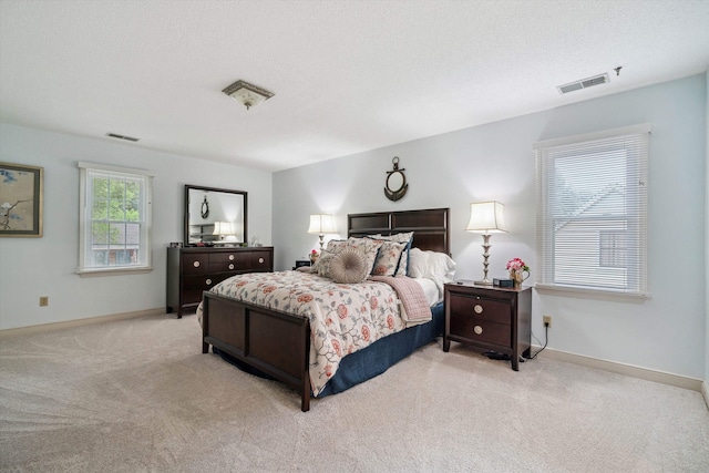
M0 163L0 237L41 237L44 168Z

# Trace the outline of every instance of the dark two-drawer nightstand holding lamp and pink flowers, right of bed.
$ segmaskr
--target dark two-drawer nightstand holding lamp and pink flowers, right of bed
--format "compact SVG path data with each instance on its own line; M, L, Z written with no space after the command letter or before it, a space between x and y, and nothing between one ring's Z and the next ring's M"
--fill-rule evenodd
M461 284L462 282L462 284ZM508 354L520 371L520 357L532 346L532 288L475 286L473 281L446 284L443 351L451 340L485 351Z

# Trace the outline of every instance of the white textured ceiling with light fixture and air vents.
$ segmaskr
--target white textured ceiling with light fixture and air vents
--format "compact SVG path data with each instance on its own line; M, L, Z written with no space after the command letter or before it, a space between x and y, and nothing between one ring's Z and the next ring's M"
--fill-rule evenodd
M0 121L264 171L708 65L706 0L0 0Z

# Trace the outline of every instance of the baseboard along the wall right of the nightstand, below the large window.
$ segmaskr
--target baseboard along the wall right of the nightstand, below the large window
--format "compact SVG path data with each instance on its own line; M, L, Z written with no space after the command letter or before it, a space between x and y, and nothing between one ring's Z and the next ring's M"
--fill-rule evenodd
M532 351L541 349L541 347L533 347ZM540 357L549 358L553 360L567 361L574 364L580 364L588 368L596 368L599 370L610 371L618 374L625 374L633 378L639 378L647 381L655 381L661 384L674 385L677 388L689 389L691 391L701 392L709 407L709 395L707 393L707 384L695 378L688 378L679 374L672 374L665 371L650 370L648 368L635 367L633 364L618 363L616 361L607 361L598 358L585 357L583 354L569 353L567 351L554 350L551 348L544 349L540 353Z

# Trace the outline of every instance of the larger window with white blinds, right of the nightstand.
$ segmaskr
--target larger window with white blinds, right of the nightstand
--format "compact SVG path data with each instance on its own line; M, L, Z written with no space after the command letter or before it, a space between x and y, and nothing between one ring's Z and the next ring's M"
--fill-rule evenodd
M648 124L534 145L537 287L647 296Z

